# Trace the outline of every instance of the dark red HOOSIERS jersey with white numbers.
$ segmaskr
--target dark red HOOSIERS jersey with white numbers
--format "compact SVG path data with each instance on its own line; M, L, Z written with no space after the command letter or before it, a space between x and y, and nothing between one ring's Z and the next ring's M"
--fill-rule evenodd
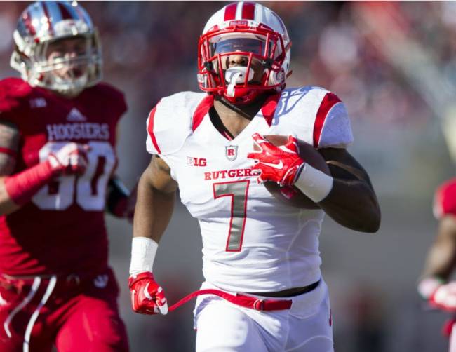
M67 142L90 146L83 175L55 179L20 210L0 217L1 273L105 268L106 188L116 166L116 125L125 111L123 94L105 83L66 99L21 79L0 81L0 120L14 123L21 137L14 173L46 160Z

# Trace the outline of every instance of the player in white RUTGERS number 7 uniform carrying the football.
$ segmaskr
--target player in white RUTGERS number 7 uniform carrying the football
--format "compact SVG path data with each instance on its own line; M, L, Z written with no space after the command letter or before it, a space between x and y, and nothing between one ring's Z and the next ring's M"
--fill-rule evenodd
M168 312L152 266L179 187L203 238L196 351L333 351L318 252L324 213L356 231L380 226L369 177L345 149L352 135L344 104L323 88L285 88L290 39L260 4L217 11L199 39L198 63L203 93L164 97L147 120L153 156L135 208L133 310ZM289 135L288 143L274 147L265 135ZM318 149L331 175L300 158L297 139ZM281 203L264 181L296 187L315 209Z

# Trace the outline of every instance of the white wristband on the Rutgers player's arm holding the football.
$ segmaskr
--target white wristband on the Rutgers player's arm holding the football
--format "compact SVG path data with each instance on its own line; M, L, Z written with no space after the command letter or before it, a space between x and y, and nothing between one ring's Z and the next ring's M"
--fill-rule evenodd
M323 201L333 189L334 179L325 172L304 163L295 186L315 203Z

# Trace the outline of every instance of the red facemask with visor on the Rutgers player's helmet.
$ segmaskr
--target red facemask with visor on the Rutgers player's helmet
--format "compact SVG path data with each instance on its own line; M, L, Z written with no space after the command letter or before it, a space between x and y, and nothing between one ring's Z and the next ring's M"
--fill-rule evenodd
M267 90L285 86L286 48L266 28L215 30L199 41L199 86L233 104L248 104Z

